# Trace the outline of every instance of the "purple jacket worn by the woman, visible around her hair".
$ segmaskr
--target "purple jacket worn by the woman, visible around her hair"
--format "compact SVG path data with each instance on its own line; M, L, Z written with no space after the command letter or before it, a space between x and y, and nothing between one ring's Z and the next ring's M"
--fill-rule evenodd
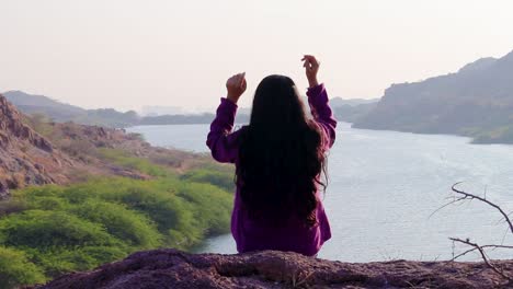
M328 104L324 85L320 84L307 91L308 103L316 123L323 131L323 148L328 150L335 139L337 120ZM231 131L237 112L237 104L225 97L220 99L217 115L210 125L206 144L210 148L212 157L219 162L238 164L237 138L241 129ZM300 220L292 220L285 228L269 228L260 226L248 218L241 209L240 188L237 187L235 206L231 213L231 234L237 242L239 253L255 250L293 251L308 256L316 255L322 244L331 238L330 224L317 192L318 226L307 228Z

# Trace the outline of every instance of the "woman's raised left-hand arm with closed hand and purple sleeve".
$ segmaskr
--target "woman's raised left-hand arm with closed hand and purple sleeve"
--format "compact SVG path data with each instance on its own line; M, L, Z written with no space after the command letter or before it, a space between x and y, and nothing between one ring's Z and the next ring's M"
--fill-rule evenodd
M216 117L210 124L206 144L216 161L233 163L239 150L238 135L240 130L235 132L231 130L237 113L237 101L246 91L244 73L236 74L228 79L226 86L228 96L220 99Z

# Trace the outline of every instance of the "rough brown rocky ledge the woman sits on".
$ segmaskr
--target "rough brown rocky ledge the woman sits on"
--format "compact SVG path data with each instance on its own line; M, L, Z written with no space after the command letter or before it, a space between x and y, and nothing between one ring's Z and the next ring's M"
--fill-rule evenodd
M513 274L513 261L502 261ZM483 263L341 263L295 253L187 254L138 252L95 270L35 288L511 288Z

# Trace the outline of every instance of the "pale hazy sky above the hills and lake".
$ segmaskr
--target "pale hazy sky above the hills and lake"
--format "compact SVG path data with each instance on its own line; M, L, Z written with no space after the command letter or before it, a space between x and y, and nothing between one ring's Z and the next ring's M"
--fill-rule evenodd
M511 0L0 0L0 91L84 107L215 107L240 71L248 106L270 73L306 88L303 54L331 97L371 99L513 50Z

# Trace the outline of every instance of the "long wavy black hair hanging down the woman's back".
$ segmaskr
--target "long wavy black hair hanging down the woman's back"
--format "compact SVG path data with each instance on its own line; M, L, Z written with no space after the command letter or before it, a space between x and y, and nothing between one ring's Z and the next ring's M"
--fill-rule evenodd
M236 183L250 218L277 224L296 216L317 223L316 192L326 189L319 126L307 117L294 81L264 78L256 88L249 126L241 131Z

